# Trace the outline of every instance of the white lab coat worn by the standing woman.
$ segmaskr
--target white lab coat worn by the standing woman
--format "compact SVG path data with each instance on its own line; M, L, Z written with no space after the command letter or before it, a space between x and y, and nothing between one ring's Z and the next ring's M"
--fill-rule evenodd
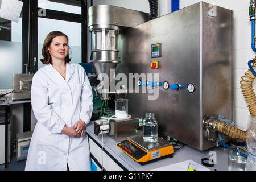
M89 123L93 94L84 68L67 63L66 80L51 64L39 69L32 80L31 105L37 123L31 138L25 170L89 170L86 132L81 138L62 134L79 119Z

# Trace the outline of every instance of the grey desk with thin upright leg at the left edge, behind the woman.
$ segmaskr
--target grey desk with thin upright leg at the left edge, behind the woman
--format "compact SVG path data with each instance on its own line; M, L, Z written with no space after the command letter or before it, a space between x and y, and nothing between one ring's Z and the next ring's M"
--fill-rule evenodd
M11 104L28 104L31 100L5 100L0 101L0 106L5 106L5 168L8 167L7 159L8 159L8 116L10 114L10 105ZM26 122L26 121L25 121ZM27 123L23 125L27 126Z

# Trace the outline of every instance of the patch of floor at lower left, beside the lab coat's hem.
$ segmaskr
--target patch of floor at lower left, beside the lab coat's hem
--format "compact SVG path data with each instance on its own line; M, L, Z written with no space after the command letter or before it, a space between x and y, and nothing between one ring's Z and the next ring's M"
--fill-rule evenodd
M16 155L13 154L11 157L8 167L5 168L5 164L0 164L0 171L24 171L26 165L26 160L18 161L16 160Z

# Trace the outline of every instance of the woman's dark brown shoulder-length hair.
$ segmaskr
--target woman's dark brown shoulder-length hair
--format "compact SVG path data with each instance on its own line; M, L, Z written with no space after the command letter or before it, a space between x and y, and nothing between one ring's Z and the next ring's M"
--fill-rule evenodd
M49 64L52 61L51 55L49 54L49 51L48 51L48 48L52 43L52 39L55 38L56 36L65 36L65 38L67 38L67 40L68 40L68 36L63 34L63 32L60 32L60 31L50 32L46 36L46 39L44 39L44 44L43 44L43 49L42 49L42 55L44 58L40 59L43 64ZM71 61L71 59L69 58L69 53L68 53L68 55L65 57L65 63L69 63L70 61Z

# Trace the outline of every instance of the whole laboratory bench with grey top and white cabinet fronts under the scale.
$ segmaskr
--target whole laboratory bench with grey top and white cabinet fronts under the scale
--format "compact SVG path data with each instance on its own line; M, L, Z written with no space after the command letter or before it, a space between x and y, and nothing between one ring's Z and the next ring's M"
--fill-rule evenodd
M90 121L90 123L86 125L86 133L88 134L92 161L97 164L97 169L100 170L102 159L102 135L99 134L97 136L94 134L94 121ZM214 147L209 150L200 151L185 145L180 148L180 150L174 152L172 158L160 159L152 163L141 165L120 150L117 147L119 142L116 142L114 138L110 137L108 134L103 134L103 143L103 168L106 171L180 170L181 168L179 167L184 165L181 162L187 160L192 160L203 166L201 164L201 159L210 158L213 156L213 153L216 154L216 164L213 167L207 168L210 171L228 171L228 149L224 147ZM175 168L175 166L177 166L177 168Z

